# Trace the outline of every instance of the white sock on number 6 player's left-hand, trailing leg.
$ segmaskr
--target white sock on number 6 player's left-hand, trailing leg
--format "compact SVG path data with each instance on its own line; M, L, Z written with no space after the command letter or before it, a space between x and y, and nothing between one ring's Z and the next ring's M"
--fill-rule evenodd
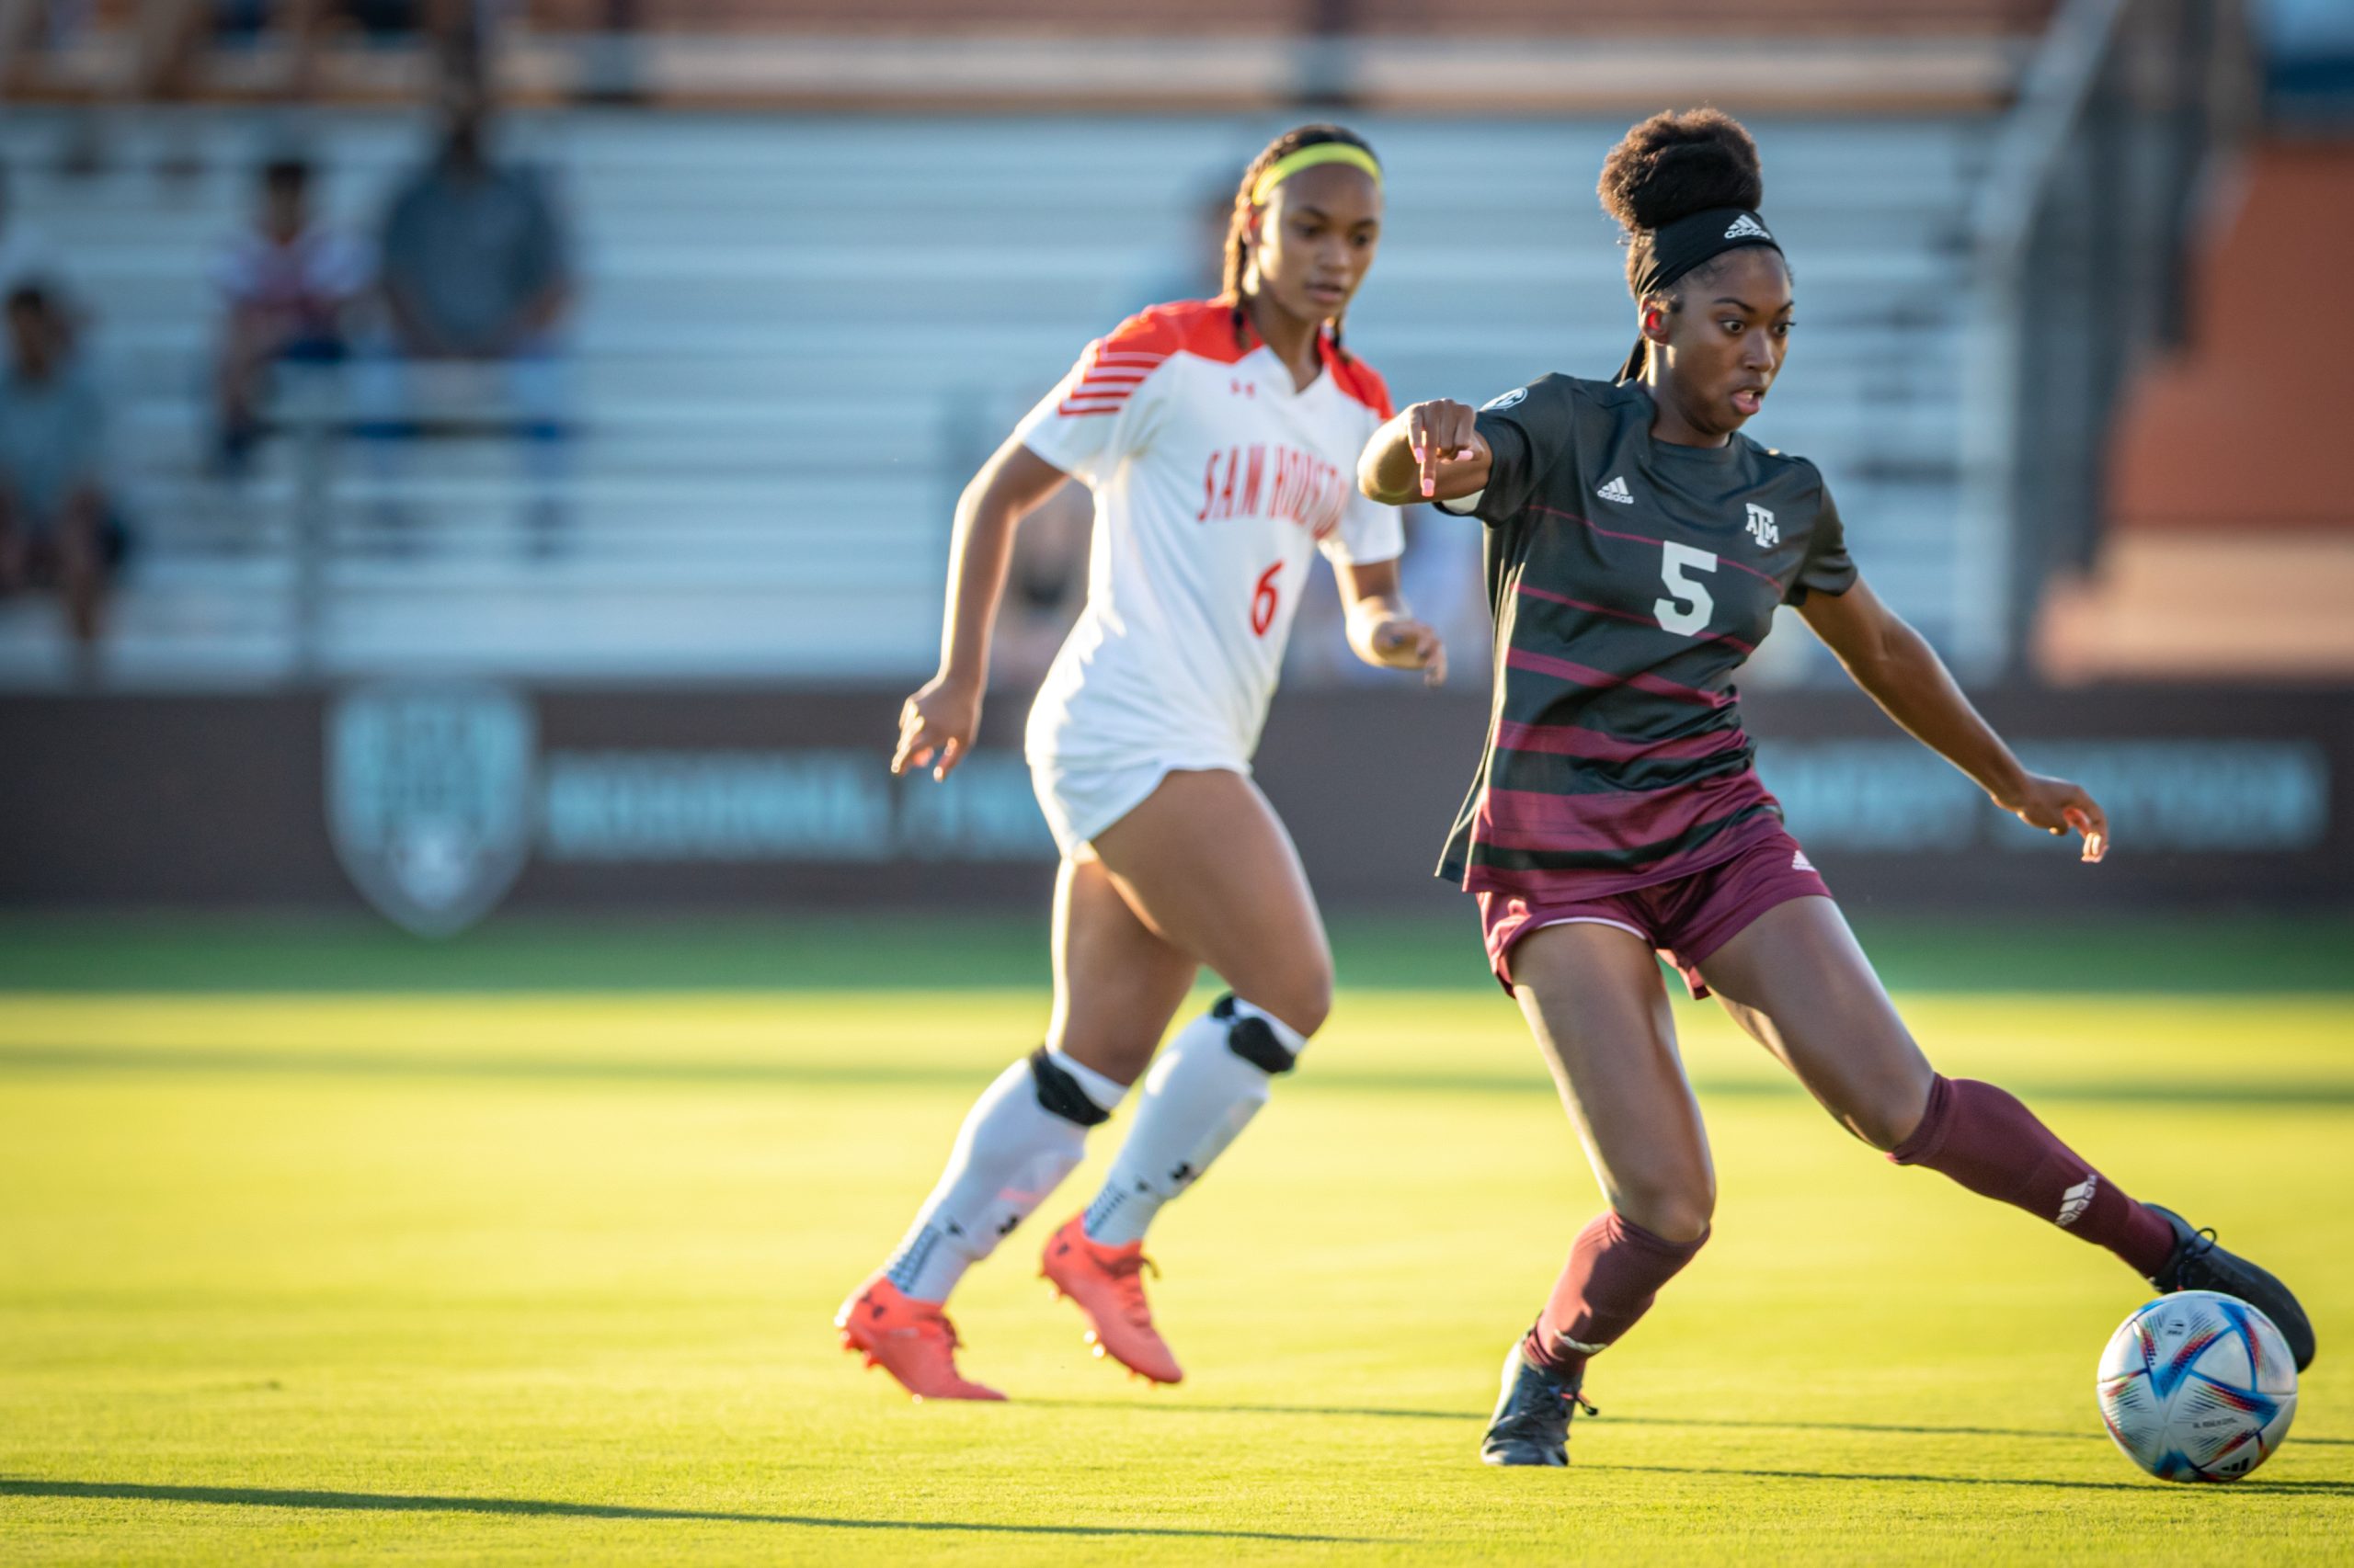
M1085 1154L1088 1125L1104 1121L1128 1092L1059 1050L1038 1057L1045 1057L1048 1074L1038 1071L1036 1057L1024 1057L972 1102L939 1187L883 1264L890 1283L918 1302L949 1300L965 1269L989 1257L1071 1175ZM1048 1109L1048 1097L1064 1092L1080 1097L1064 1107L1090 1116L1085 1125Z

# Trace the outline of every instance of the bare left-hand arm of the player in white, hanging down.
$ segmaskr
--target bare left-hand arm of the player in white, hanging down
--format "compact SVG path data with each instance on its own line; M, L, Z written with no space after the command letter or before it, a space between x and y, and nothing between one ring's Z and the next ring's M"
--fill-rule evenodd
M972 732L982 725L982 692L989 687L989 633L996 629L998 596L1005 593L1015 527L1064 478L1062 469L1008 438L958 497L939 673L899 709L892 772L930 765L935 779L946 779L972 749Z

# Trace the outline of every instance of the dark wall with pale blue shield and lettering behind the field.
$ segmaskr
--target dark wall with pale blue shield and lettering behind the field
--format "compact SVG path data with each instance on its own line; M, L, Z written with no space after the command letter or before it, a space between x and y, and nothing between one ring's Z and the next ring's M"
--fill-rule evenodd
M892 782L897 690L518 690L0 699L0 906L501 909L1031 904L1052 845L998 695L946 786ZM2083 777L2116 852L2001 817L1853 695L1744 699L1766 784L1855 904L2354 906L2354 692L2102 687L1982 699ZM1448 909L1429 871L1485 706L1283 697L1259 782L1337 906Z

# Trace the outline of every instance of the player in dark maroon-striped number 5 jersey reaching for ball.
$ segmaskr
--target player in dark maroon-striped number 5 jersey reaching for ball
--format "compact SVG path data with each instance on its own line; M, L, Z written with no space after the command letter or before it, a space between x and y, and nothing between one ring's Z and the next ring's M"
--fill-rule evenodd
M1615 381L1542 377L1483 410L1417 403L1365 447L1377 501L1488 525L1497 687L1441 876L1478 895L1608 1210L1504 1361L1481 1457L1568 1464L1587 1358L1709 1238L1716 1177L1655 951L1846 1125L2109 1248L2159 1290L2255 1302L2302 1368L2314 1330L2265 1269L2137 1203L1991 1083L1921 1055L1751 768L1733 676L1806 624L1904 730L2003 810L2107 852L2081 786L2029 772L1935 650L1857 577L1822 473L1740 433L1773 391L1791 275L1749 134L1716 111L1627 132L1601 177L1641 337Z

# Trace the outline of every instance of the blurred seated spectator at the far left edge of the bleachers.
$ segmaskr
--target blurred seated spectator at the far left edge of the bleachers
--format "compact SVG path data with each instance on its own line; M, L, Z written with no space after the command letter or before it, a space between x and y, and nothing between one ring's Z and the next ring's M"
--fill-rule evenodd
M0 377L0 593L54 586L75 640L99 638L99 593L120 553L104 490L104 405L73 358L56 301L26 283L7 294Z

